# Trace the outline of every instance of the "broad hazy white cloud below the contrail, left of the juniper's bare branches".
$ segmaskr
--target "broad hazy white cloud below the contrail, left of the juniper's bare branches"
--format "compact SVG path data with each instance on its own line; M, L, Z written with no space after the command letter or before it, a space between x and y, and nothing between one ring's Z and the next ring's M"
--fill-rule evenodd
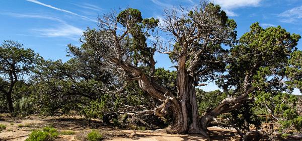
M34 29L42 36L46 37L80 37L83 30L72 25L61 24L55 28Z

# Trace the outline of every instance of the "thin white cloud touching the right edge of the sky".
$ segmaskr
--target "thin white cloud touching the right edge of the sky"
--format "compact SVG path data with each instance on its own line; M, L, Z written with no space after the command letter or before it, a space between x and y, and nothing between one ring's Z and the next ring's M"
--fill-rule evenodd
M290 10L284 11L278 15L283 19L281 22L284 23L294 23L302 18L302 6L292 8Z

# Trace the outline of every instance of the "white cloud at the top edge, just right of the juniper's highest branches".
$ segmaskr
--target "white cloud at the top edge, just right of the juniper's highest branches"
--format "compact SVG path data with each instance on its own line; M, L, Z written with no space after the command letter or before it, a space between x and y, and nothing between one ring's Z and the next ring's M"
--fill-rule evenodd
M257 7L262 0L213 0L215 4L220 7L228 14L228 16L238 16L233 10L244 7Z

